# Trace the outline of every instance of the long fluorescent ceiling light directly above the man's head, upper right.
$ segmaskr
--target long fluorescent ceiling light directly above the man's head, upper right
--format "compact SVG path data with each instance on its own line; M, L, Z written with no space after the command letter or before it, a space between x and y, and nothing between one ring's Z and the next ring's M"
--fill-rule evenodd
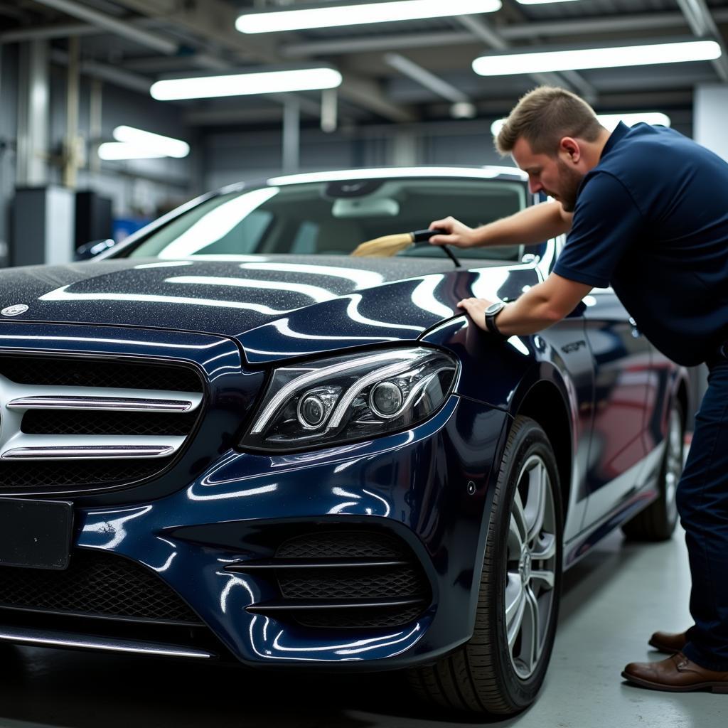
M484 55L472 62L472 70L480 76L510 76L544 71L576 71L580 68L686 63L692 60L714 60L720 55L721 47L716 41L682 41L618 48Z

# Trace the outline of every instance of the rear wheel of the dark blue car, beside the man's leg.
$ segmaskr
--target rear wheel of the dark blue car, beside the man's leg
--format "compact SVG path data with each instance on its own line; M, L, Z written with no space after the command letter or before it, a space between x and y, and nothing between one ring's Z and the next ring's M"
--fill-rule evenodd
M665 541L673 535L678 522L676 491L683 465L683 411L673 402L668 415L665 454L662 455L657 485L660 496L634 518L622 525L622 531L634 541Z

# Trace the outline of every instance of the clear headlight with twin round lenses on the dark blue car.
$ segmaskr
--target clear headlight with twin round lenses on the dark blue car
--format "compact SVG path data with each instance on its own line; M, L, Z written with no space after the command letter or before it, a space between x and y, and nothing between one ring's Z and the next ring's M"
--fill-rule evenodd
M413 347L276 369L240 444L288 451L406 429L443 404L457 366L446 352Z

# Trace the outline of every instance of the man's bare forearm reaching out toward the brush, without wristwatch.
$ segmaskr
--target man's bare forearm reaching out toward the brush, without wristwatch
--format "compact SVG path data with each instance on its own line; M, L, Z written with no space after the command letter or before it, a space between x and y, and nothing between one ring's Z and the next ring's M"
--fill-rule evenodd
M569 232L571 215L558 202L541 202L473 231L475 245L533 245Z

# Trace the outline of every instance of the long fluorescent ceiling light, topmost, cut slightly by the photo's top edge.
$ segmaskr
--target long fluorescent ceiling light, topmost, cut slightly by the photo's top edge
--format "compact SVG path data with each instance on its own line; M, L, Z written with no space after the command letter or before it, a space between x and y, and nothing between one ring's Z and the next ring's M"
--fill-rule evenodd
M272 33L302 28L331 28L334 25L391 23L395 20L417 20L422 17L472 15L496 12L501 0L392 0L357 4L336 4L300 10L255 12L240 15L235 27L241 33Z

